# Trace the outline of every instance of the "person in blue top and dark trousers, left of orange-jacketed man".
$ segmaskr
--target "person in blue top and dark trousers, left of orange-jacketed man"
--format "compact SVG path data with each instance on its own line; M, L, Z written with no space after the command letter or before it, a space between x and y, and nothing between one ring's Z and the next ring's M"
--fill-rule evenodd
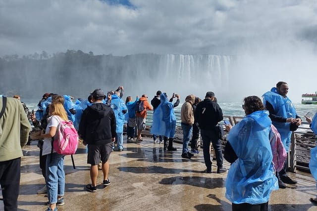
M132 97L131 96L127 96L125 104L127 106L128 109L128 124L127 124L127 141L130 142L137 142L137 138L136 138L136 120L135 120L135 106L137 104L137 102L139 101L139 96L136 97L135 101L132 102Z

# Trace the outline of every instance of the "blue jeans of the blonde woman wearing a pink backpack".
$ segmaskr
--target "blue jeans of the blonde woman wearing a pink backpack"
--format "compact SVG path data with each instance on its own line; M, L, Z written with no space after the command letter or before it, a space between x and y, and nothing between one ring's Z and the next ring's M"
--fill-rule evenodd
M52 162L51 162L52 157ZM57 203L57 196L65 190L64 155L48 154L46 158L46 187L50 204Z

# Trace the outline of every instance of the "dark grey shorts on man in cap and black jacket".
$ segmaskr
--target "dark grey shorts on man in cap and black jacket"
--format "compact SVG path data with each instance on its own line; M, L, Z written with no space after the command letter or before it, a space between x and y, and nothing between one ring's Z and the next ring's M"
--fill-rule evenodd
M87 164L98 165L100 161L106 163L112 151L113 142L107 144L88 144Z

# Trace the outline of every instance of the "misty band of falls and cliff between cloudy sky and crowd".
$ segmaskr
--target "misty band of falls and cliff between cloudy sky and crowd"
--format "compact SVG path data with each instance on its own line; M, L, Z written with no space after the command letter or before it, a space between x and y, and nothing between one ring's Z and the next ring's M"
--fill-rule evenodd
M302 93L313 93L317 77L314 54L183 55L135 54L90 55L68 50L49 59L0 60L0 92L22 99L40 99L43 93L87 98L96 87L115 90L124 86L126 96L157 90L204 98L215 92L219 102L242 102L248 95L259 97L278 81L289 84L288 96L295 103Z

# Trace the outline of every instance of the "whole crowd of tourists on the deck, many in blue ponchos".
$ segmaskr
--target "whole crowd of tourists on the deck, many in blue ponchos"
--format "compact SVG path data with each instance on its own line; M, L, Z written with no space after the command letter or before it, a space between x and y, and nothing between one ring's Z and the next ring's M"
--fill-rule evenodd
M291 133L301 125L302 119L297 115L287 93L288 84L278 82L263 94L263 101L258 96L245 97L242 107L246 116L235 126L225 122L225 129L229 133L224 156L221 149L224 128L220 124L223 114L214 92L208 91L203 100L194 94L185 97L180 112L183 131L181 157L191 159L200 153L197 142L201 135L205 173L211 173L212 144L216 172L227 171L223 167L223 157L231 164L226 178L225 196L232 203L233 211L267 211L272 190L286 188L285 183L297 183L287 175L285 160ZM34 127L42 129L41 133L31 138L39 140L40 168L45 186L37 193L47 193L47 211L56 211L58 206L65 204L64 155L52 148L56 128L62 121L71 121L83 144L87 145L87 163L91 165L91 183L86 186L89 192L97 191L99 168L103 171L103 185L106 187L110 184L109 157L114 150L124 150L125 123L127 143L143 141L142 130L147 129L149 110L154 110L151 126L153 143L162 144L164 150L176 151L177 148L173 146L176 130L174 108L179 105L180 96L173 93L168 98L166 92L157 91L151 102L147 94L136 96L135 100L127 96L124 102L123 94L123 86L107 93L96 88L87 99L79 98L73 102L70 95L45 93L38 104L39 109L30 114L25 104L19 101L20 96L15 95L16 99L1 97L0 108L4 109L0 112L0 185L4 208L17 210L20 172L17 174L16 169L20 169L21 149L28 142L31 128L28 118ZM173 103L174 99L176 102ZM315 133L316 116L306 118ZM315 162L311 162L310 167L317 179L317 152L313 152L312 161ZM6 170L8 167L14 167L14 172ZM317 203L316 198L311 201Z

